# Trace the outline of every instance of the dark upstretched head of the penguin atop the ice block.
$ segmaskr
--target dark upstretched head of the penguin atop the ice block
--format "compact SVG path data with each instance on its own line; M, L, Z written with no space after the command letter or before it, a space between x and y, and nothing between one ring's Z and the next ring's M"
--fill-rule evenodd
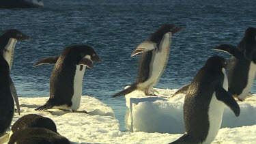
M182 30L180 27L176 27L173 24L165 24L162 25L155 33L153 33L150 36L150 41L152 42L160 42L162 40L162 36L165 35L165 33L171 33L172 35L174 33L177 33L177 31Z

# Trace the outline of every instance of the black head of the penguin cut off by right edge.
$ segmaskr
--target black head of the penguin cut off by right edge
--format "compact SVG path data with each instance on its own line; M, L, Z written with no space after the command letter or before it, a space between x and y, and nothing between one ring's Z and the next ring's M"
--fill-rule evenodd
M244 56L256 63L256 28L249 27L244 32Z

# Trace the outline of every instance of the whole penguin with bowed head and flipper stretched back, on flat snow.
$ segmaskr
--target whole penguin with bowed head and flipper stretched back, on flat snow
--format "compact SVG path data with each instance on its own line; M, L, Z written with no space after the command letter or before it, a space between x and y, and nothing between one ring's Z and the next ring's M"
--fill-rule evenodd
M55 108L77 112L82 95L85 66L93 67L93 61L101 61L93 48L87 45L72 45L64 48L59 57L48 57L34 66L55 63L50 81L50 98L35 111ZM85 111L86 113L86 111Z

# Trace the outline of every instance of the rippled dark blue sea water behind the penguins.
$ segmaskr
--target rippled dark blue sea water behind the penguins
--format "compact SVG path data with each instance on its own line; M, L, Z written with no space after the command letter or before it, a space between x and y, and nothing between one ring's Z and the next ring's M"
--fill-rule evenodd
M158 85L177 89L189 83L216 44L238 44L247 27L256 27L255 0L44 0L44 8L0 10L0 33L16 28L31 40L18 42L12 78L18 96L49 94L53 65L33 68L44 57L59 55L71 44L94 46L102 63L94 63L83 79L83 95L94 96L115 111L124 130L124 98L110 98L136 78L139 56L134 47L163 23L184 27L173 36L167 68ZM255 93L253 85L252 91Z

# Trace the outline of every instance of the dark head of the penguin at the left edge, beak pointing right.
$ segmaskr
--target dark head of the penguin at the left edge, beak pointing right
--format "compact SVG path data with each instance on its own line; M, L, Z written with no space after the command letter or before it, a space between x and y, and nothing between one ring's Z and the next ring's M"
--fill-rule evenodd
M18 29L8 29L3 33L3 35L7 38L15 38L16 40L29 40L29 36L25 35Z

